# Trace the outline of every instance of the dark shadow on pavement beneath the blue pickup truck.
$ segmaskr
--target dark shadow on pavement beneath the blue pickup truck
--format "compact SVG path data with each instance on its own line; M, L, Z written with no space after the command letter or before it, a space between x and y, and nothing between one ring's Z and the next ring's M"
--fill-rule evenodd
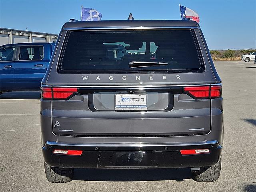
M40 99L40 91L11 91L5 92L0 99Z

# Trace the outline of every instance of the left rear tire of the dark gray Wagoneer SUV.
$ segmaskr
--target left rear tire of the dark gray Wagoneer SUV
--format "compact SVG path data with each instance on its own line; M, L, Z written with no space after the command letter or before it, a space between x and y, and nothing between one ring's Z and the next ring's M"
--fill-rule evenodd
M74 168L51 167L44 162L45 175L51 183L67 183L72 181Z

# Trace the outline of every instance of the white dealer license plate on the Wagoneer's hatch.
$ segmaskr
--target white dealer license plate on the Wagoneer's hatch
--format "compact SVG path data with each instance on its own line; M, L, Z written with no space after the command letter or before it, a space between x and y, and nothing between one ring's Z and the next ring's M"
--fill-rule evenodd
M115 110L147 110L146 94L115 94Z

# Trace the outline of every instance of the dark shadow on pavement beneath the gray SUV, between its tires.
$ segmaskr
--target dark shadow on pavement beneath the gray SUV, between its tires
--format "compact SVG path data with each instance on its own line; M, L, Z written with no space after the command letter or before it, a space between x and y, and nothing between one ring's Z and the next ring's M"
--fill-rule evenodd
M75 169L73 180L158 181L192 178L190 168L179 169Z

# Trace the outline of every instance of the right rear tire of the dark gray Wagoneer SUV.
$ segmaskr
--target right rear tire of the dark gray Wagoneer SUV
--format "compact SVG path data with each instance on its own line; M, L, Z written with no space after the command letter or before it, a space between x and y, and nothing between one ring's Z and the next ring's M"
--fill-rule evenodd
M220 177L221 158L220 161L210 167L200 167L200 171L192 172L192 179L198 182L213 182Z

